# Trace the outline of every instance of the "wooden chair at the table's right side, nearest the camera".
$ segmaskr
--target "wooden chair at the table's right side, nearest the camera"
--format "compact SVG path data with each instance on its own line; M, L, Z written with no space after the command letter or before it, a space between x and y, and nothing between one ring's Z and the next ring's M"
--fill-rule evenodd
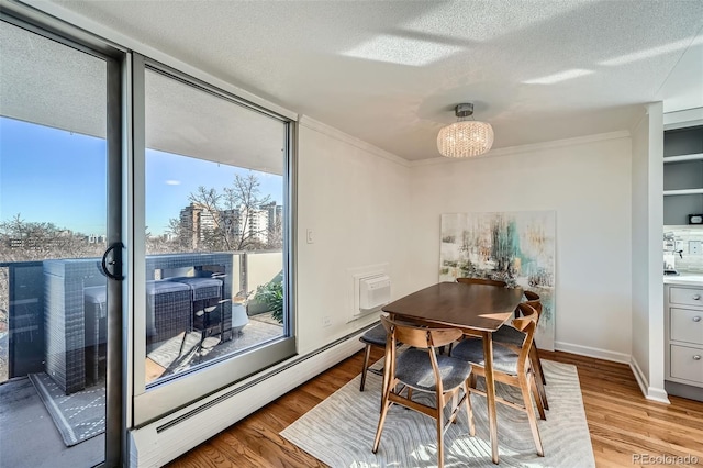
M495 381L506 383L520 389L523 404L495 397L495 401L527 413L529 428L535 441L537 455L544 456L542 438L537 428L537 417L533 406L533 399L537 405L539 416L544 419L542 399L537 394L537 379L529 359L529 349L537 326L537 311L523 302L518 305L523 316L513 319L513 326L523 332L523 341L520 346L507 343L493 343L493 378ZM470 393L486 395L486 392L477 389L477 376L486 378L486 360L483 358L483 343L481 339L465 339L457 344L451 352L451 357L464 359L471 364L471 376L468 390Z

